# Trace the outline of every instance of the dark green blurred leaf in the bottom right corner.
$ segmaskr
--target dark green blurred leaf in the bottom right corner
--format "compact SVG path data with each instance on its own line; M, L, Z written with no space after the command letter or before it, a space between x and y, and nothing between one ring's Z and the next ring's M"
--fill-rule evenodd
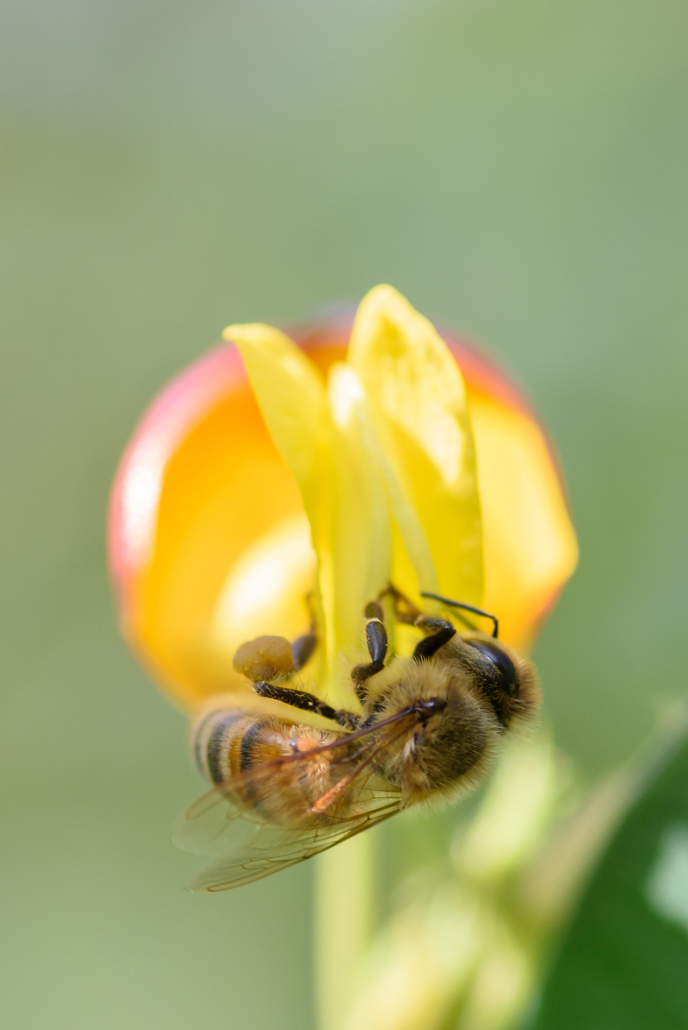
M688 1027L688 735L646 780L590 881L532 1030Z

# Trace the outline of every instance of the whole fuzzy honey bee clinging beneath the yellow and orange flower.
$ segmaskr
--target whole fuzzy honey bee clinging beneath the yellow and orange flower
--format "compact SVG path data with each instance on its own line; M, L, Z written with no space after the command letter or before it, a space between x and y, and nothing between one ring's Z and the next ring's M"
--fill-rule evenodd
M351 670L362 714L335 710L290 684L315 650L314 627L293 645L259 637L237 650L234 668L251 680L255 698L237 694L204 713L192 730L196 764L215 786L173 836L183 850L211 859L191 890L238 887L412 804L456 798L485 777L500 736L533 717L537 674L498 641L495 616L424 593L454 610L464 624L459 632L449 619L418 611L394 587L385 594L394 617L423 637L411 657L392 656L386 664L383 595L366 606L370 660ZM492 636L460 614L466 611L491 619ZM310 713L307 720L303 712Z

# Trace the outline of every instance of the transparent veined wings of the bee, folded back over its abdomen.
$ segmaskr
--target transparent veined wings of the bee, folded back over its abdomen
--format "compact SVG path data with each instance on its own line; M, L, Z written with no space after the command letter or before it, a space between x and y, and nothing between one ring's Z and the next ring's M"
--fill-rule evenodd
M408 733L415 713L352 733L333 745L302 755L265 762L220 784L200 797L177 823L173 844L211 861L187 885L193 891L221 891L260 880L332 848L388 819L401 808L398 790L375 775L384 751ZM315 762L326 762L328 777L314 800L297 812L285 775L307 777ZM271 819L249 808L247 790L285 795L284 818ZM287 798L291 796L291 800Z

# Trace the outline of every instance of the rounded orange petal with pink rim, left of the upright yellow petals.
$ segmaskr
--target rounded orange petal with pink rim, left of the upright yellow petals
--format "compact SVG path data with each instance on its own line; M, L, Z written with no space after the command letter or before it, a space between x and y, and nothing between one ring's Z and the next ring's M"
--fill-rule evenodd
M238 351L216 347L143 416L110 504L110 568L124 632L179 703L193 708L207 694L247 686L231 666L242 641L222 641L233 587L251 578L252 562L255 589L264 592L248 613L243 607L242 640L303 631L308 540L297 484ZM275 580L302 587L300 594L275 596Z

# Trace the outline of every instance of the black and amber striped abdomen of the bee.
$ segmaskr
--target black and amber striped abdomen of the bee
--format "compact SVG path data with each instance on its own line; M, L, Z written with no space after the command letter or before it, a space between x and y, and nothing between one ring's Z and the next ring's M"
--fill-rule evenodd
M192 731L192 748L199 771L214 784L234 781L233 794L247 809L259 810L270 822L302 822L332 786L328 752L305 761L274 764L340 741L332 733L259 716L245 709L209 712Z

